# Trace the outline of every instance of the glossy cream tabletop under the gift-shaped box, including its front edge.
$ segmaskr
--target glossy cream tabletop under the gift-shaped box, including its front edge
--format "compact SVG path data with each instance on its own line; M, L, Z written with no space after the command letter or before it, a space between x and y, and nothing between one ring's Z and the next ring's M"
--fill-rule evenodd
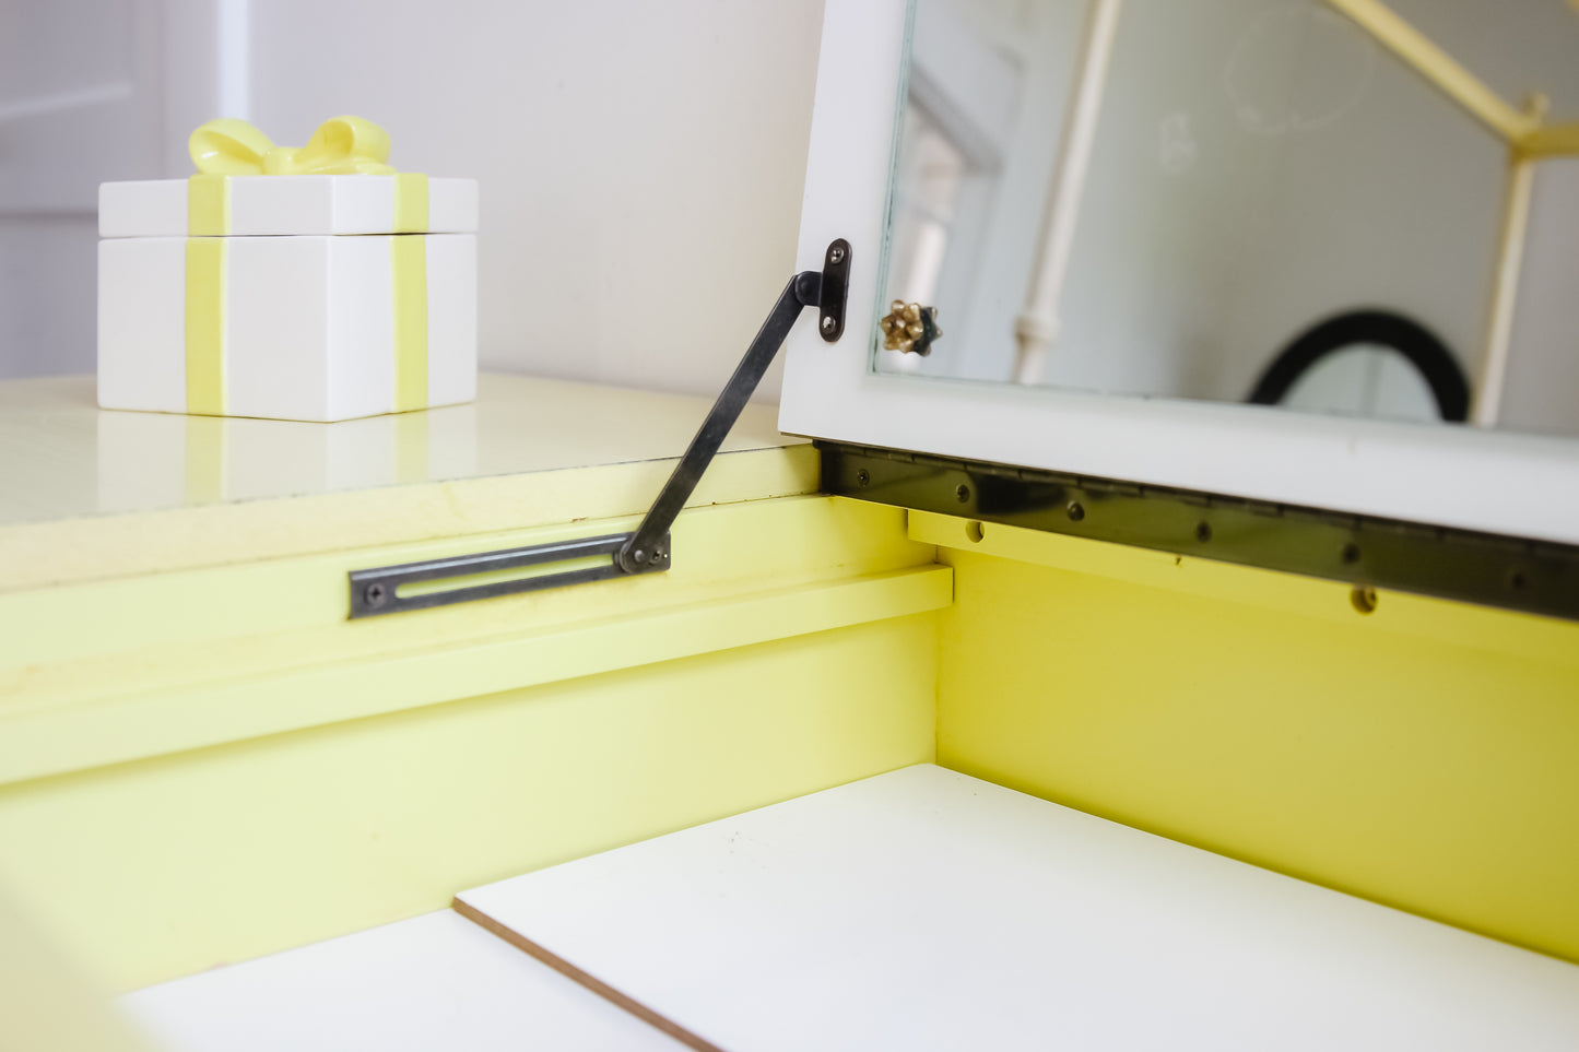
M711 404L483 374L467 406L294 423L101 411L92 376L0 382L0 591L635 515ZM692 504L816 490L775 415L745 408Z

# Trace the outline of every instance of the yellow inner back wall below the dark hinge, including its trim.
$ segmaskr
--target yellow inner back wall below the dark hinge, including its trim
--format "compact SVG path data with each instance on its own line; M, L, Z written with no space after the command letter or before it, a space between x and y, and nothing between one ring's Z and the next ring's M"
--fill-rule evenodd
M1579 626L968 528L940 763L1579 960Z

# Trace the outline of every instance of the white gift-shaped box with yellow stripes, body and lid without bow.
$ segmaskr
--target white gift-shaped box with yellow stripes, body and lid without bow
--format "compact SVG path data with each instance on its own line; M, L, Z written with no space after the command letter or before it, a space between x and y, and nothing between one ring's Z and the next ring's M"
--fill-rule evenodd
M471 401L475 229L466 178L106 183L99 406L328 422Z

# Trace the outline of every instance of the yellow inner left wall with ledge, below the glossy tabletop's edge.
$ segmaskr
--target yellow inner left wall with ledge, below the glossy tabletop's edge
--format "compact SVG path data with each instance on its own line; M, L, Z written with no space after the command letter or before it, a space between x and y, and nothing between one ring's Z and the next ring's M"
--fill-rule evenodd
M674 569L346 621L346 570L632 520L0 596L0 885L117 989L933 755L952 570L835 498Z

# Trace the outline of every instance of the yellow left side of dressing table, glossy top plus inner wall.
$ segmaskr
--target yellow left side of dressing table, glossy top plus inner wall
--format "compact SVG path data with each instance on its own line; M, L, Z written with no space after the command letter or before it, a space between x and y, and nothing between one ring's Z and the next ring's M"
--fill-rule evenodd
M748 408L662 575L351 622L354 569L633 528L706 400L291 425L0 385L0 886L115 987L928 760L952 570Z

